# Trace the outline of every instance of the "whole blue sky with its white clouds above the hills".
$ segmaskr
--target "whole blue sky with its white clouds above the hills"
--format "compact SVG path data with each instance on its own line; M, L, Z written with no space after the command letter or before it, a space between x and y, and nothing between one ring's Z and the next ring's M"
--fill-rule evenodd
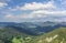
M66 0L0 0L0 22L65 21Z

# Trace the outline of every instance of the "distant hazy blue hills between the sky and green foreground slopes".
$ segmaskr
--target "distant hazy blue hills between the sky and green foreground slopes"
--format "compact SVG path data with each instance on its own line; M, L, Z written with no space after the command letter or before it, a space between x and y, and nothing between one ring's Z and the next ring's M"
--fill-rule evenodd
M51 32L57 28L64 26L66 28L66 23L57 23L57 22L0 22L0 28L13 28L21 33L30 34L30 35L40 35L47 32Z

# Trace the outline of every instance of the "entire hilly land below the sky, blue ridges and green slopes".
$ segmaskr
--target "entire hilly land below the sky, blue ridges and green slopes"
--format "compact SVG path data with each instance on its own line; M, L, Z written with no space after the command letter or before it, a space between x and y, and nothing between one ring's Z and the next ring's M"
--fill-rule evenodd
M0 43L66 43L66 23L0 22Z

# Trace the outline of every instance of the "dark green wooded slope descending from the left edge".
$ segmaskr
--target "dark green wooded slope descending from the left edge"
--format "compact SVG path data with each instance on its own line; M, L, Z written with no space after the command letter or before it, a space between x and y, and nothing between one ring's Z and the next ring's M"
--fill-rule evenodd
M35 37L31 36L24 32L20 32L13 28L0 28L0 43L13 43L12 40L16 39L23 39L25 41L26 37ZM16 42L16 41L15 41Z

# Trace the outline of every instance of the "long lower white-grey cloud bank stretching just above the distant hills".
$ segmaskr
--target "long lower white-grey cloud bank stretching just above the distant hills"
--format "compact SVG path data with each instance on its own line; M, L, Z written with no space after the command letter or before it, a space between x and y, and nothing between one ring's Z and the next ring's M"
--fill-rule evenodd
M36 11L35 11L36 12ZM64 21L66 18L65 17L66 12L65 11L57 11L57 12L40 12L40 13L30 13L30 14L18 14L18 15L13 15L13 14L7 14L6 19L10 20L10 21L46 21L46 20L51 20L51 21ZM53 14L51 14L53 13ZM55 14L56 13L56 14ZM38 20L37 20L38 19ZM63 20L64 19L64 20Z

